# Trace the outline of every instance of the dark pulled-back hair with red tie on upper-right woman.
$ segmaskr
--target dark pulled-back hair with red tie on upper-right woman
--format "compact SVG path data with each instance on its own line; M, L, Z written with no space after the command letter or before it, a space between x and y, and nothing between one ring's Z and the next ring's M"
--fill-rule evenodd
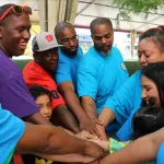
M141 36L139 42L144 38L151 38L155 44L160 46L160 50L164 51L164 26L160 25L156 28L150 28L145 31Z

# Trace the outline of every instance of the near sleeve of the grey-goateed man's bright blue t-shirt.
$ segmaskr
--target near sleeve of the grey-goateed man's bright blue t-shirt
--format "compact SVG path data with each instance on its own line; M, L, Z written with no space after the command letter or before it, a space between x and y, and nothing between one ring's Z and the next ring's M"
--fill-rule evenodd
M81 61L78 70L78 94L81 96L90 96L93 99L96 98L97 93L97 73L96 70L92 69L95 65L91 59L84 59Z

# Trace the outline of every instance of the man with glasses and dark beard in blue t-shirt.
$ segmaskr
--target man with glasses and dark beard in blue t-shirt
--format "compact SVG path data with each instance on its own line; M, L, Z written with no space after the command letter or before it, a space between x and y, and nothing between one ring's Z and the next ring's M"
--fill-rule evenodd
M59 22L55 27L55 35L60 45L56 82L67 106L79 120L80 129L99 136L96 127L90 121L77 95L77 71L83 57L79 46L78 35L72 24Z

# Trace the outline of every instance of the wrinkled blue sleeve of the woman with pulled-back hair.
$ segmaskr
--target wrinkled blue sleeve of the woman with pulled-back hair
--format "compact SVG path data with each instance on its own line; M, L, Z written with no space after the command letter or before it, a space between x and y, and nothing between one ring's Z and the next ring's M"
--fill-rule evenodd
M117 121L122 125L134 109L134 86L136 86L136 74L130 77L120 89L114 94L114 96L107 98L104 107L110 108Z

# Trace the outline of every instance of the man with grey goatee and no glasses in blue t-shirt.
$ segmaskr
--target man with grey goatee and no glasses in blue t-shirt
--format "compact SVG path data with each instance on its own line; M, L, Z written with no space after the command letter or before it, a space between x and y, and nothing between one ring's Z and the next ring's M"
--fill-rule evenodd
M91 22L90 28L94 46L80 62L78 92L83 108L96 124L97 114L101 113L107 97L110 97L129 75L120 51L113 47L114 31L110 20L95 19ZM118 129L112 127L112 132Z

